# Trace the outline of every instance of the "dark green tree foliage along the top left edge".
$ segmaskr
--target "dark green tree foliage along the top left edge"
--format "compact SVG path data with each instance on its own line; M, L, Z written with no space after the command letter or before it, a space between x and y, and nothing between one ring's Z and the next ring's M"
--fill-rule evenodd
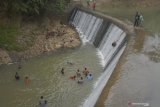
M70 0L0 0L0 10L12 14L43 15L63 12Z

